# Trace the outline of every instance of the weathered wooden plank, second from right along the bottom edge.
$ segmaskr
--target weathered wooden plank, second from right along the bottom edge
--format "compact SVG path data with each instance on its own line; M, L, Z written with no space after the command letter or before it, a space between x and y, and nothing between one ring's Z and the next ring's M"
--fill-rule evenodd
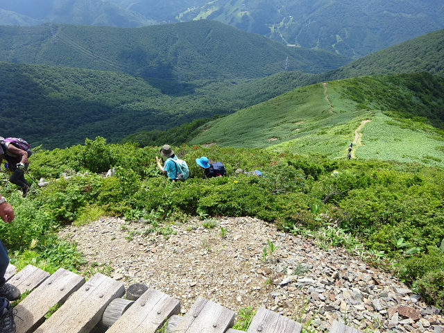
M247 333L299 333L302 325L265 307L259 307Z

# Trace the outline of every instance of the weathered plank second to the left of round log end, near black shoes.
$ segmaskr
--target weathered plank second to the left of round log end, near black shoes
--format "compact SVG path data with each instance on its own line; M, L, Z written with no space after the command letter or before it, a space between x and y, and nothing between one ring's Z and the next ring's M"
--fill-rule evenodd
M15 307L21 319L16 321L17 333L34 332L44 322L50 307L65 302L84 283L82 276L58 269Z

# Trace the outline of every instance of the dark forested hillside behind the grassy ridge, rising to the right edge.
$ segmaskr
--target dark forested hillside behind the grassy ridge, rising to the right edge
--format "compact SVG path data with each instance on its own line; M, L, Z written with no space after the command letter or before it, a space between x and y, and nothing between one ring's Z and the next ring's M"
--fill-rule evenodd
M179 84L155 78L145 80L119 71L0 62L1 108L6 115L3 121L10 133L7 135L26 137L31 144L44 144L45 148L80 144L85 137L97 135L109 142L124 139L143 146L161 144L162 140L181 144L196 135L190 132L193 126L169 133L162 130L194 119L231 114L305 85L369 72L398 74L430 70L442 74L443 34L444 31L437 31L418 37L326 74L281 71L255 80L221 80L214 74L214 80ZM39 54L38 49L44 49L42 45L34 48L34 55ZM216 59L219 61L217 56ZM82 60L94 62L87 56ZM207 61L214 62L210 57ZM22 119L20 122L16 121L17 115ZM435 117L436 126L437 121ZM150 133L151 130L154 132Z

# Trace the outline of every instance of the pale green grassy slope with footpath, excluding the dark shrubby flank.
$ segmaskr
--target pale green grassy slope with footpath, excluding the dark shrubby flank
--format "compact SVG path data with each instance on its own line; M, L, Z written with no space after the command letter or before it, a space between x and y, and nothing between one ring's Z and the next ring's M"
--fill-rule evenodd
M393 121L380 110L358 110L341 80L309 85L208 123L190 144L268 148L282 153L421 162L444 167L444 138L413 121ZM375 106L377 108L377 106ZM367 121L359 126L363 121Z

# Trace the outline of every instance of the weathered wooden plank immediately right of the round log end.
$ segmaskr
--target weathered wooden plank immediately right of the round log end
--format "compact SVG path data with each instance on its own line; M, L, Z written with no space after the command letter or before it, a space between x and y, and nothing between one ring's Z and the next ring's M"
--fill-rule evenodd
M154 333L169 316L180 312L180 302L149 288L126 310L107 333Z

